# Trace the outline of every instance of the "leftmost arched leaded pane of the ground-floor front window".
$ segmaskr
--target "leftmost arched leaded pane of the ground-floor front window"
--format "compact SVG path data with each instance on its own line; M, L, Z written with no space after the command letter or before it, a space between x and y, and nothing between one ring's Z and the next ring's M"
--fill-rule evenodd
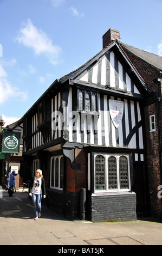
M97 155L95 157L95 189L105 190L105 157Z

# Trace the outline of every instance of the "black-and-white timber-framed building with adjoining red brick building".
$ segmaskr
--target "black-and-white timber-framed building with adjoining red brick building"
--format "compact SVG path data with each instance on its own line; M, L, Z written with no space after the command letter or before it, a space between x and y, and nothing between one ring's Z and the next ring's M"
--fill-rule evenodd
M162 57L109 29L103 49L18 120L30 179L42 169L51 208L74 219L82 203L91 221L162 217L161 70Z

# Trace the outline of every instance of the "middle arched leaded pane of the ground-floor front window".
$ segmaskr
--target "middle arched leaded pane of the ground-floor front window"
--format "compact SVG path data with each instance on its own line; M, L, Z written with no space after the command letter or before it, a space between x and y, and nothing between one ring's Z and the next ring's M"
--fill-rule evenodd
M116 157L108 157L108 188L109 190L118 188L118 178L117 178L117 163Z

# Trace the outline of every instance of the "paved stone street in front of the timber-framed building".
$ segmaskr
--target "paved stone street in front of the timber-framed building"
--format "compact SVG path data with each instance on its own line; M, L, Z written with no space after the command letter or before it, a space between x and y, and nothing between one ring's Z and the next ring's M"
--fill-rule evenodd
M162 245L162 223L71 221L42 204L42 217L34 220L27 190L3 190L0 198L0 245ZM46 200L46 199L45 199Z

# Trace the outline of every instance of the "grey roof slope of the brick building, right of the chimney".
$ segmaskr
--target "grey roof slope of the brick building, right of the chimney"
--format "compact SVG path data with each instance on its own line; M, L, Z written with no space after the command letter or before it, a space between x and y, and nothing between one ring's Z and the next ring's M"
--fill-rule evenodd
M132 52L135 56L141 58L142 60L145 60L145 62L151 64L155 68L157 68L159 70L162 70L162 56L158 56L154 53L150 53L150 52L140 50L140 49L135 48L133 46L124 44L122 42L120 42L120 45L122 47L125 47L126 50L128 50L129 52Z

